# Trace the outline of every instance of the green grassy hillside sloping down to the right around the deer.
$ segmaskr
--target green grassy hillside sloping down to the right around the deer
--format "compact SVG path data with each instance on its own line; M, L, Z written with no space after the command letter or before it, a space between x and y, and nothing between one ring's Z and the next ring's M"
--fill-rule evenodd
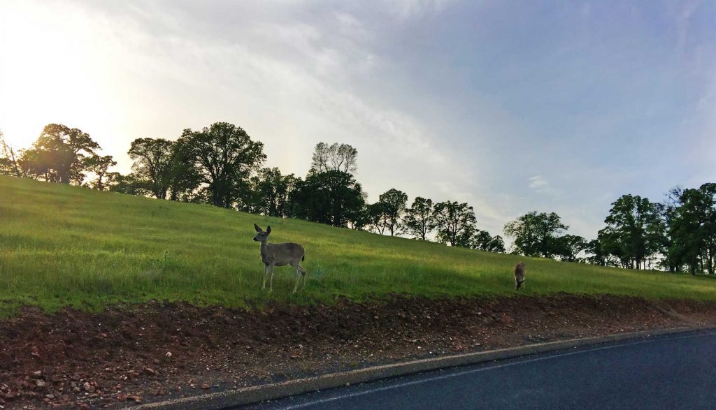
M263 265L253 223L271 242L306 248L306 291L276 268L261 291ZM19 306L97 309L152 299L200 305L331 303L390 293L427 297L513 295L512 269L527 265L525 294L612 293L716 300L716 281L484 253L390 238L301 220L79 187L0 177L0 316Z

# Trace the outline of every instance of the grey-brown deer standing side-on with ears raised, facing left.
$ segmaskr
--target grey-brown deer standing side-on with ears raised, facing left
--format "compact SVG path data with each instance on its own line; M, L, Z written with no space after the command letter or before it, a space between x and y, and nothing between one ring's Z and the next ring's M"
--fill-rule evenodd
M301 278L301 291L306 288L306 270L299 265L301 260L305 258L304 247L298 243L266 243L271 233L271 227L266 227L264 232L261 227L253 224L253 228L256 229L256 236L253 240L261 242L261 262L263 262L263 286L261 290L266 289L266 277L269 276L271 271L271 280L269 280L269 293L274 291L274 268L276 266L291 265L296 269L296 285L294 286L294 293L299 288L299 278Z

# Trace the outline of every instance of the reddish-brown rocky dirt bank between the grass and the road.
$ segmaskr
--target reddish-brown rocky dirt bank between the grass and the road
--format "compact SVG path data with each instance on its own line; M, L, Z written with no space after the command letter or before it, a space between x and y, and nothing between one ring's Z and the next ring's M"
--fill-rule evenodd
M27 309L0 321L0 408L130 406L449 353L684 324L716 303L617 296Z

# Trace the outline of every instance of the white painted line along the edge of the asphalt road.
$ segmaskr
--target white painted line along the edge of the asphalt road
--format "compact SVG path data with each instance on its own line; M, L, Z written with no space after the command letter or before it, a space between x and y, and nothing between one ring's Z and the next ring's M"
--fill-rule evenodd
M341 396L329 397L329 398L327 398L327 399L307 401L306 403L294 404L293 406L281 407L281 409L283 409L283 410L301 409L301 408L303 408L303 407L314 406L315 404L324 404L324 403L329 403L329 402L331 402L331 401L337 401L337 400L343 400L343 399L350 399L350 398L352 398L352 397L364 396L365 394L376 393L376 392L378 392L378 391L386 391L386 390L392 390L392 389L399 389L400 387L412 386L412 385L414 385L414 384L427 383L428 381L438 381L438 380L450 379L450 378L457 377L457 376L463 376L463 375L465 375L465 374L473 374L473 373L478 373L478 372L480 372L480 371L493 370L493 369L495 369L495 368L503 368L503 367L509 367L509 366L517 366L517 365L519 365L519 364L534 363L534 362L536 362L536 361L549 360L549 359L551 359L551 358L574 356L574 355L576 355L576 354L589 353L589 352L592 352L592 351L601 351L601 350L608 350L608 349L611 349L611 348L620 348L620 347L634 346L634 345L640 345L640 344L645 344L645 343L654 343L654 342L657 342L657 341L679 340L679 339L685 339L685 338L697 338L697 337L702 337L702 336L715 336L715 335L716 335L716 333L703 333L703 334L698 334L698 335L678 336L678 337L673 337L673 338L655 338L655 339L652 339L652 340L639 341L639 342L627 343L627 344L619 344L619 345L615 345L615 346L602 346L602 347L597 347L597 348L590 348L590 349L588 349L588 350L571 351L571 352L567 352L567 353L553 354L553 355L545 356L545 357L537 357L537 358L530 358L530 359L522 360L522 361L514 361L514 362L512 362L512 363L502 363L502 364L496 364L496 365L494 365L494 366L485 366L485 367L480 367L480 368L473 368L473 369L470 369L470 370L459 371L458 373L445 374L445 375L442 375L442 376L434 376L434 377L431 377L431 378L429 378L429 379L420 379L420 380L415 380L415 381L406 381L405 383L392 384L392 385L390 385L390 386L377 387L377 388L374 388L374 389L369 389L369 390L364 390L364 391L356 391L356 392L354 392L354 393L342 394Z

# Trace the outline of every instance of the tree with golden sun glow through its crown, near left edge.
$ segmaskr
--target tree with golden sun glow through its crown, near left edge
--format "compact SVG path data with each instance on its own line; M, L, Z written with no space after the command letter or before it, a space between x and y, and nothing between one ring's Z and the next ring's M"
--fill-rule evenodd
M89 134L62 124L49 124L34 142L23 150L19 163L26 175L48 182L82 183L87 155L95 155L100 145Z

